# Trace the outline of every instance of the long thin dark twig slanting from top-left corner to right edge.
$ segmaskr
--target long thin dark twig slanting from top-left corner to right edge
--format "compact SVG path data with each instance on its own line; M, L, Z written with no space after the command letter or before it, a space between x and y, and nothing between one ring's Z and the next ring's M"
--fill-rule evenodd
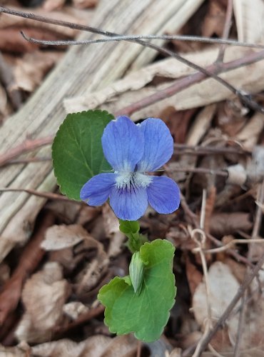
M15 15L15 16L21 16L21 17L24 17L26 19L34 19L36 21L41 21L41 22L45 22L45 23L48 23L48 24L56 24L56 25L59 25L59 26L67 26L67 27L70 27L71 29L79 29L79 30L91 32L93 34L101 34L103 36L108 36L108 37L121 36L120 34L116 34L116 33L110 32L110 31L103 31L101 29L96 29L96 28L91 27L91 26L73 24L73 23L70 23L68 21L58 21L58 20L54 20L54 19L47 19L44 16L37 16L35 14L25 13L23 11L15 11L15 10L4 8L3 6L0 6L0 12L4 12L6 14L11 14L11 15ZM143 41L143 40L140 40L140 39L128 40L128 41L136 42L136 44L141 44L142 46L147 46L150 49L154 49L155 51L160 52L161 54L164 54L166 56L171 56L171 57L177 59L178 61L181 61L183 64L186 64L187 66L190 66L191 68L193 68L196 71L198 71L198 74L202 75L202 79L205 79L207 77L211 77L211 78L215 79L215 81L218 81L220 84L222 84L227 89L229 89L231 92L233 92L233 94L238 96L240 101L242 101L243 104L249 106L250 109L254 109L256 111L260 111L261 113L264 112L264 108L262 108L257 103L255 103L255 101L253 101L252 99L248 98L248 96L243 94L242 91L239 91L238 89L235 89L235 87L233 87L231 84L226 82L224 79L220 78L218 76L218 74L220 73L218 69L215 69L215 71L210 71L210 70L208 71L207 68L204 69L203 67L200 67L200 66L198 66L197 64L194 64L191 61L188 61L188 59L184 59L178 53L170 51L168 49L164 49L163 47L160 47L160 46L156 46L155 44L152 44L151 42L146 42L146 41ZM199 81L199 79L198 79L198 81ZM168 94L166 96L168 96ZM151 96L148 97L148 98L151 98ZM159 99L159 100L161 100L161 99ZM155 99L155 101L156 101L156 99ZM122 113L122 114L124 114L124 113Z

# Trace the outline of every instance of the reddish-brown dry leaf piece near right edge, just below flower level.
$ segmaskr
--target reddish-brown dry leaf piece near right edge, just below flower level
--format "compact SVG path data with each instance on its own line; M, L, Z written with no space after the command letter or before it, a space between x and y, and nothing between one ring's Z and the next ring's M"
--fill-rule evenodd
M244 212L213 213L210 219L210 233L213 236L228 236L238 230L249 231L252 226L250 214Z

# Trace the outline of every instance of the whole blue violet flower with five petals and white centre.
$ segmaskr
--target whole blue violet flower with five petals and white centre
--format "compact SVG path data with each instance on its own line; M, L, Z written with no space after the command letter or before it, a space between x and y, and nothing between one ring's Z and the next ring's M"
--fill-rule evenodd
M118 218L136 221L148 203L158 213L180 204L178 185L166 176L149 176L171 159L173 138L161 119L134 124L127 116L111 121L102 136L103 154L114 172L93 176L81 188L81 200L101 206L109 198Z

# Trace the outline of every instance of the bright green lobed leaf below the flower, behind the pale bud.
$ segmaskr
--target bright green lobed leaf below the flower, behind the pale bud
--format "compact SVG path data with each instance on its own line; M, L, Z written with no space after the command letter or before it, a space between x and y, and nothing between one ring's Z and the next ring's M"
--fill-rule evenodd
M106 306L104 321L112 333L134 332L136 338L147 342L161 336L176 296L174 251L170 242L161 239L141 246L145 266L139 295L127 278L113 278L100 289L98 299Z

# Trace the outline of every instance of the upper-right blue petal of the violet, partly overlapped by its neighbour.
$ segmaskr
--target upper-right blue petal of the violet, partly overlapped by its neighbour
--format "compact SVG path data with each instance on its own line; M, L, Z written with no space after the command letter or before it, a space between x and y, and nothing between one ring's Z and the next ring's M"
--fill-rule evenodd
M161 119L148 118L139 128L144 135L144 154L138 162L137 171L155 171L171 159L173 137Z

